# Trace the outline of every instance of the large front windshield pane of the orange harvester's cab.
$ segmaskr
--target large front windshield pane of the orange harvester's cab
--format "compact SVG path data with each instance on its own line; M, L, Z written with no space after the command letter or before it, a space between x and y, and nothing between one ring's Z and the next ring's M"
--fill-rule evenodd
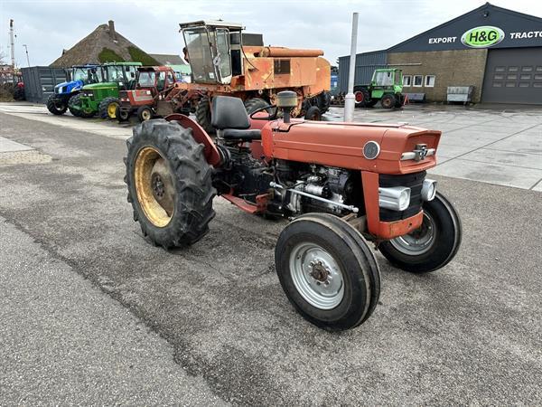
M210 53L209 36L205 27L186 29L182 33L194 80L216 83L217 78Z

